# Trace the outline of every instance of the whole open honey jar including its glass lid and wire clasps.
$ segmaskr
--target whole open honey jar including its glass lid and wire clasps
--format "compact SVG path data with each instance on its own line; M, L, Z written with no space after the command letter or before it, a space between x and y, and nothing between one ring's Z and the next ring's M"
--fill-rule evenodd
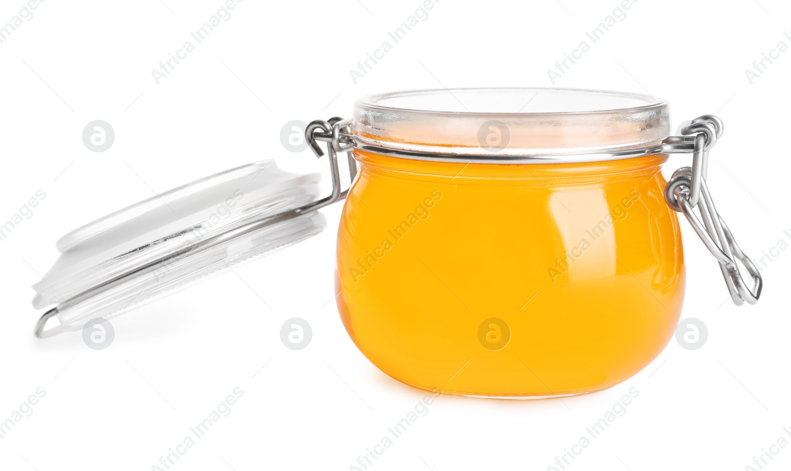
M324 198L319 175L264 161L66 235L34 285L34 306L54 305L35 332L80 330L297 243L324 228L317 209L346 198L336 299L351 339L382 371L479 397L602 390L649 364L676 329L685 283L677 212L717 259L732 300L760 296L758 270L706 187L722 123L704 115L679 133L668 104L630 93L368 96L353 119L305 129L317 156L319 141L327 145ZM348 190L338 153L347 153ZM666 182L669 153L693 159Z

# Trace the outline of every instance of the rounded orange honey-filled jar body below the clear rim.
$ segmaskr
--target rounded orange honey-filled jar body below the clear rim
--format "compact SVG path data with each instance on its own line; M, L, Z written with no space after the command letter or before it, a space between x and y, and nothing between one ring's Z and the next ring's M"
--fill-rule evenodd
M666 156L354 156L337 302L358 349L393 378L447 394L581 394L630 378L672 337L684 267Z

